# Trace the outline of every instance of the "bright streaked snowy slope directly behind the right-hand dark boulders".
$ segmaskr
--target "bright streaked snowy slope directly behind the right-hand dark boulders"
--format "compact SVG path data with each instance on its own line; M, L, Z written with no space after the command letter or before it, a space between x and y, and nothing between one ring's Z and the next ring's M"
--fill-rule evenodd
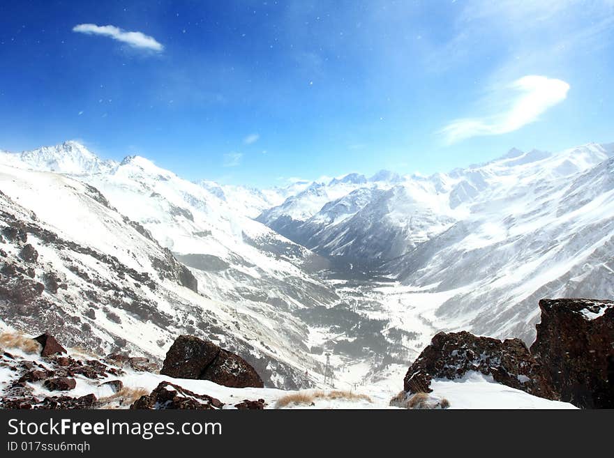
M421 303L432 298L421 316L435 328L532 342L539 298L614 296L608 153L588 144L484 166L488 187L463 202L467 215L387 269L422 287Z

